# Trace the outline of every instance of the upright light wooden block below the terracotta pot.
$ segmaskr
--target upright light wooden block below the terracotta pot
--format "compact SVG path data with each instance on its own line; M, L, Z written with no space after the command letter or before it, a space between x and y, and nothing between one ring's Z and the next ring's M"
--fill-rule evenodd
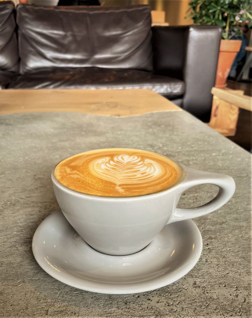
M228 94L232 93L232 96L234 95L235 97L240 97L244 93L240 90L218 89L215 87L212 89L212 93L218 93L219 91L228 91ZM222 100L216 95L213 96L211 119L208 123L209 127L213 128L223 136L234 136L236 133L238 116L239 107L226 100Z

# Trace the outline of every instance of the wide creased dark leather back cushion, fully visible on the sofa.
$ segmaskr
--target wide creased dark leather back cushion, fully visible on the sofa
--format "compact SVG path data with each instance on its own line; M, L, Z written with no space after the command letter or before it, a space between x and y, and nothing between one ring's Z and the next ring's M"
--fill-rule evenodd
M47 67L152 70L149 6L41 7L19 4L21 73Z

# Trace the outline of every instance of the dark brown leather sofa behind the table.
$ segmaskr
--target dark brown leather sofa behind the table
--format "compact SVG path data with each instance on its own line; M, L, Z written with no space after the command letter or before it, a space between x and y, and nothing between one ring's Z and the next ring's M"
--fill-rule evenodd
M150 10L0 2L1 88L150 88L209 121L221 28L151 28Z

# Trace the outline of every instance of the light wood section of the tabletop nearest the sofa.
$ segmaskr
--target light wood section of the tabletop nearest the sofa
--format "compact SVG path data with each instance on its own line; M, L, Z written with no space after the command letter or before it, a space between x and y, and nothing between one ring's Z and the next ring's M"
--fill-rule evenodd
M149 89L40 89L0 91L0 115L77 112L115 117L181 108Z

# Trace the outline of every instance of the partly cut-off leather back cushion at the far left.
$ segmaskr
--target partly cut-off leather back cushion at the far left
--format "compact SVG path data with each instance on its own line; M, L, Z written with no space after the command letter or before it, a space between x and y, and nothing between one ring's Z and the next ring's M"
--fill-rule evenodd
M0 2L0 70L18 73L18 49L14 4Z

